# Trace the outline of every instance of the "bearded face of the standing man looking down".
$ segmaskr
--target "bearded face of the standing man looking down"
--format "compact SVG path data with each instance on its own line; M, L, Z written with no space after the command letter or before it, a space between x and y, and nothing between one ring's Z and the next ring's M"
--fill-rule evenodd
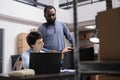
M45 18L49 24L53 24L56 20L56 11L53 8L47 9Z

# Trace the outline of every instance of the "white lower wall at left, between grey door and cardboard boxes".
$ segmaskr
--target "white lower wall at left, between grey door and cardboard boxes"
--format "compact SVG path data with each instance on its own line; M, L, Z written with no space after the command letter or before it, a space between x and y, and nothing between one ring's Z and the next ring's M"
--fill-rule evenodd
M0 20L0 28L4 29L3 72L5 73L11 69L10 56L17 54L17 35L21 32L28 33L30 29L36 27Z

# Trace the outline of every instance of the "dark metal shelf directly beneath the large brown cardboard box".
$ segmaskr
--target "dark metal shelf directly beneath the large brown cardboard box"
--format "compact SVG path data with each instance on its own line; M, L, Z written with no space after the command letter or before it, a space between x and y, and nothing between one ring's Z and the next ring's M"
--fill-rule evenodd
M115 75L120 76L119 61L81 61L80 74L82 75Z

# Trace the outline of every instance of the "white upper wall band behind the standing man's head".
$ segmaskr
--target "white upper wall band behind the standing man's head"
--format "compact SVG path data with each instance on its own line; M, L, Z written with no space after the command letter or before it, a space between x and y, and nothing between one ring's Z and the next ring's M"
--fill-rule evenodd
M42 1L42 0L41 0ZM55 4L58 4L58 0ZM47 4L47 2L44 3ZM56 6L53 3L49 3L53 6ZM73 9L63 10L57 8L57 20L73 23ZM97 12L106 10L105 1L97 2L89 5L79 6L78 7L78 22L94 20ZM0 14L14 16L17 18L31 20L35 22L45 22L45 18L43 15L43 9L35 8L29 5L25 5L12 0L2 0L0 3Z

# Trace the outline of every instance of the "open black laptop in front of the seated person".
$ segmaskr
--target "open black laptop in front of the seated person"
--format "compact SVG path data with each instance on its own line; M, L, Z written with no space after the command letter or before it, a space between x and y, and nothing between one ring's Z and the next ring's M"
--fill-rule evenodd
M61 53L30 53L30 69L35 74L60 73Z

